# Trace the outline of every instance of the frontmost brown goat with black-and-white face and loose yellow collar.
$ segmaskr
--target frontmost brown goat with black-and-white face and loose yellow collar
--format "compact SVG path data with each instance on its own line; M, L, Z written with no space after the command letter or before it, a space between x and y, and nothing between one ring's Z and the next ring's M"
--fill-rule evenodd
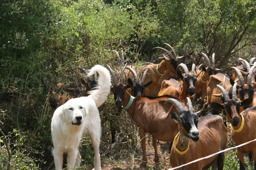
M175 99L168 99L166 103L173 103L178 109L178 114L170 112L171 118L179 125L179 133L174 139L170 152L170 164L177 167L195 159L206 157L224 150L228 141L228 129L223 124L222 117L206 115L198 120L202 112L195 113L190 98L186 98L188 105L181 104ZM199 138L200 134L200 138ZM176 139L177 138L177 139ZM224 167L224 153L214 157L195 162L179 168L180 170L218 170Z

